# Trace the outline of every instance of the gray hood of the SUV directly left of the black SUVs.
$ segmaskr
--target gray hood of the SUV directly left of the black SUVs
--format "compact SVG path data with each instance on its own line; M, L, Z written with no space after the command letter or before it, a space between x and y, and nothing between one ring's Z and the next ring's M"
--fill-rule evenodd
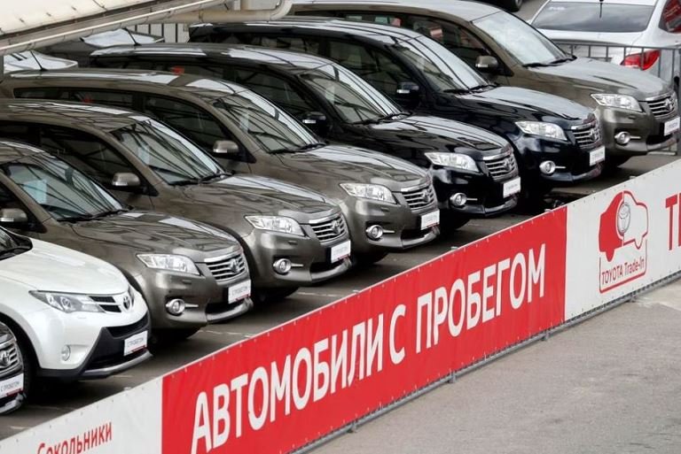
M316 173L317 178L333 180L335 185L347 181L377 183L398 189L405 181L426 179L426 173L403 159L340 144L300 153L282 153L277 157L291 172ZM307 179L302 181L309 183Z

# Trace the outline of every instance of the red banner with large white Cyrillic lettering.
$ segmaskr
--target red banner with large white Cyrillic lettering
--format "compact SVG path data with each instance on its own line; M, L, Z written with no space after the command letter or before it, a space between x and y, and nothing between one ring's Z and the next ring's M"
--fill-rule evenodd
M560 325L566 218L531 219L167 375L162 452L289 452Z

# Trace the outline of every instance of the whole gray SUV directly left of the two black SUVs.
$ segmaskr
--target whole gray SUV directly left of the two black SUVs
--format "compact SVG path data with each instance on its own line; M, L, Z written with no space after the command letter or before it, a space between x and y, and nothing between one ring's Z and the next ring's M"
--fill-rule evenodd
M182 132L227 169L319 191L340 205L358 261L375 262L440 232L424 170L371 150L322 143L278 106L237 84L190 74L74 70L21 73L0 82L0 91L136 109Z

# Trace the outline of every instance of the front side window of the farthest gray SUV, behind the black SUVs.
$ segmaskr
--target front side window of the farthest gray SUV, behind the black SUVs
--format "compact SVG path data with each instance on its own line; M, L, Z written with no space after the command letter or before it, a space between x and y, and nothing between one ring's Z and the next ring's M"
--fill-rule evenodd
M410 16L406 26L440 42L469 65L475 65L475 60L479 56L490 54L487 46L475 35L456 24L421 16Z

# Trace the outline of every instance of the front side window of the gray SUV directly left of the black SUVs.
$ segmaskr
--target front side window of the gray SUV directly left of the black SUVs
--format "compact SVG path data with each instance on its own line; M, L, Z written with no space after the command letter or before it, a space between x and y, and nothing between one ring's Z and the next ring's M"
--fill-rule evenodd
M145 96L143 112L174 127L208 152L213 150L215 141L234 140L208 112L192 104L161 96Z

